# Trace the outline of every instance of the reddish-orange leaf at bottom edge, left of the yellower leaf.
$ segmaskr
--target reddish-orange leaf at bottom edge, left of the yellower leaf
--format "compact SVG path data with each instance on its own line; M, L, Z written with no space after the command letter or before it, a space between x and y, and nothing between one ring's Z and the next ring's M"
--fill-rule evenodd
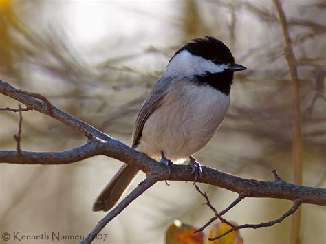
M197 230L191 225L186 225L175 220L165 231L165 244L204 244L202 232L194 234Z

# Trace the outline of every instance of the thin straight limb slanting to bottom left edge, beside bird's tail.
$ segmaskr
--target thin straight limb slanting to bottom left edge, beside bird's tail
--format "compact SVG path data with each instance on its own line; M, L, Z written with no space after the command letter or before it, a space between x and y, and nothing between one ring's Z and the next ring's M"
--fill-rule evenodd
M86 236L83 241L80 241L80 244L89 244L94 241L94 238L100 231L105 228L105 225L109 223L114 217L116 217L124 208L127 208L129 204L135 200L137 197L142 195L142 193L153 186L157 182L157 178L149 176L144 179L132 192L127 195L113 210L111 210L103 219L101 219L93 230Z

